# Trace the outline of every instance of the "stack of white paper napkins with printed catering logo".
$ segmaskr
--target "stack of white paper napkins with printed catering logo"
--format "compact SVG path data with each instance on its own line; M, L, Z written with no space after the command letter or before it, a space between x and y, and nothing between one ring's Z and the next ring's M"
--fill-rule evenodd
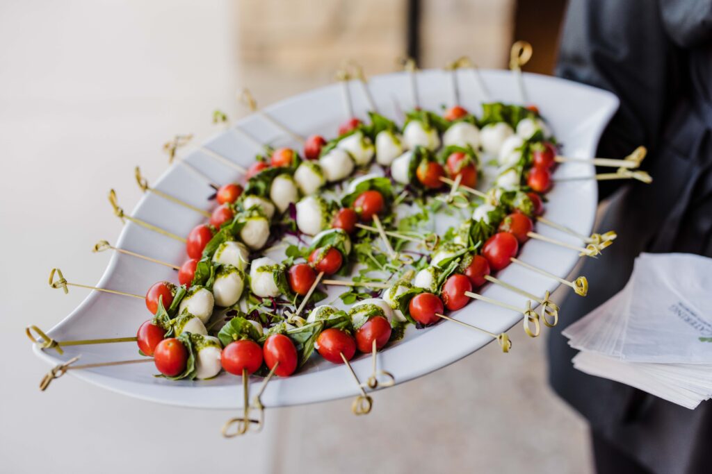
M625 288L563 334L578 370L695 408L712 397L712 259L641 254Z

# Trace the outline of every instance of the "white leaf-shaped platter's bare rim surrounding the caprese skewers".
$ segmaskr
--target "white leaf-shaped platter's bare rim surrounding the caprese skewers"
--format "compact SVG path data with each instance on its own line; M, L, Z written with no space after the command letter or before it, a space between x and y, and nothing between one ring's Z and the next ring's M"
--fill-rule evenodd
M417 72L415 80L422 108L440 110L443 104L451 105L451 73L453 72L444 70ZM484 98L473 72L458 70L454 74L459 84L460 104L478 114L479 104ZM512 72L481 70L481 78L491 96L488 101L520 102L520 92ZM409 81L407 72L379 75L369 81L370 92L379 112L399 124L402 124L402 111L413 106ZM618 107L617 98L609 92L555 77L524 74L523 82L529 101L537 105L542 117L548 121L557 139L563 144L566 155L580 158L594 156L604 126ZM368 102L360 85L352 82L348 87L352 91L355 116L366 117ZM266 107L265 112L302 136L315 133L335 136L338 124L349 118L342 106L342 88L338 84L283 100ZM299 145L260 114L251 114L236 126L265 144L293 147ZM216 134L203 145L244 168L253 163L254 156L259 151L234 128ZM239 181L239 175L233 168L215 161L205 151L196 149L187 153L184 159L199 168L214 183ZM130 170L127 169L127 172ZM590 164L562 163L557 167L554 178L593 174L594 168ZM206 181L201 181L189 168L179 163L174 163L153 183L153 187L165 193L179 195L182 200L198 208L209 210L214 207L208 200L212 190L206 185ZM120 202L120 190L118 191ZM546 217L549 220L565 223L567 227L582 235L590 234L597 206L596 181L561 181L547 197L549 201ZM192 227L202 220L197 213L187 212L153 193L145 194L130 215L177 235L187 235ZM436 216L435 219L435 224L438 225L437 220L444 217ZM575 237L550 227L538 226L538 232L571 244L581 244ZM183 244L132 222L125 225L116 247L175 264L181 264L185 259ZM571 249L530 240L523 245L518 258L565 278L580 257L578 252ZM68 279L70 276L68 275ZM171 269L124 254L114 254L96 286L143 294L155 281L174 281L175 278L175 272ZM552 279L516 265L500 271L498 278L534 294L553 291L558 286ZM330 290L326 301L332 300L342 291L344 289ZM500 286L488 285L482 289L481 294L514 306L525 307L526 303L525 297ZM520 313L482 301L473 301L450 316L476 324L492 333L502 333L521 319ZM136 328L146 318L143 301L92 291L75 311L47 333L56 340L125 337L135 335ZM560 318L565 323L566 308L561 308ZM491 343L492 340L487 335L463 330L459 325L450 323L440 323L424 329L409 326L405 337L387 346L379 352L377 358L379 367L390 372L397 383L402 383L445 367ZM515 336L515 343L525 343L525 337ZM513 350L516 350L516 347L515 345ZM133 344L66 347L62 355L51 350L41 350L38 346L35 346L34 350L38 357L53 366L77 355L81 356L82 363L135 359L137 355L137 348ZM352 360L352 367L360 379L367 379L372 371L371 363L368 355L361 355ZM156 370L150 363L97 367L70 373L100 387L152 402L211 409L233 409L242 405L238 389L239 378L228 375L209 380L173 381L154 377ZM260 382L261 377L251 378L253 384ZM350 373L344 367L312 357L295 375L273 379L261 401L266 407L290 406L352 397L358 393Z

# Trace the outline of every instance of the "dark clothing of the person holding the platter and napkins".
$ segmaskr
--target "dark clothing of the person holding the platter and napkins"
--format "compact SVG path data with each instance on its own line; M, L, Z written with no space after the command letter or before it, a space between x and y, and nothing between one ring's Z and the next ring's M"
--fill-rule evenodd
M571 0L557 75L620 98L598 156L622 158L643 144L642 169L654 181L600 185L610 203L597 228L618 239L579 272L589 296L562 302L550 382L596 436L651 472L711 472L711 402L693 411L585 375L560 332L622 289L640 252L712 257L712 0Z

